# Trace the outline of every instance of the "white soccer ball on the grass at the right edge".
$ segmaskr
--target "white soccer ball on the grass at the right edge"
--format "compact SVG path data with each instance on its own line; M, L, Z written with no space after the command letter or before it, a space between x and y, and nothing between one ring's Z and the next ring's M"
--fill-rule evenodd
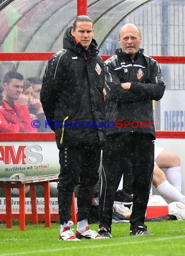
M177 220L185 220L185 204L180 202L172 202L168 204L169 215L176 216Z

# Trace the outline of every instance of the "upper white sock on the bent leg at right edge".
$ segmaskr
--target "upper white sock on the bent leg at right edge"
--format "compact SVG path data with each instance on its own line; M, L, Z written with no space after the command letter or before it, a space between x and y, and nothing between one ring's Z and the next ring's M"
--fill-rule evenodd
M167 180L181 192L181 166L167 168Z

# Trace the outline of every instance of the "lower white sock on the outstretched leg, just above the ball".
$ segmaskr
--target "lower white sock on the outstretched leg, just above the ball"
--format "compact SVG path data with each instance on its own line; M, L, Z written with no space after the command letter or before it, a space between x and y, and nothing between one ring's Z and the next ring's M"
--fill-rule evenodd
M164 181L157 188L159 194L172 202L181 202L185 204L185 196L181 194L169 181Z

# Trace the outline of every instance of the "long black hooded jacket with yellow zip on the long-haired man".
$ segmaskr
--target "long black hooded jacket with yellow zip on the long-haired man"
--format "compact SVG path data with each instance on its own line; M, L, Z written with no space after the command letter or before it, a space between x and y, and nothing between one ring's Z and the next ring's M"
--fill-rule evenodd
M57 146L106 139L103 88L104 66L93 39L87 50L66 30L63 49L48 61L40 99Z

